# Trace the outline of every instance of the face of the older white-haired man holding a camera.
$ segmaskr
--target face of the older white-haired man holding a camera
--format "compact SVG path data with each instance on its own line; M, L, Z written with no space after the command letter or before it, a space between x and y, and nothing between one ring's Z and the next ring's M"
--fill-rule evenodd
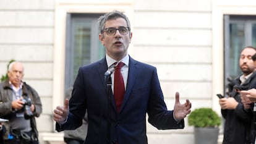
M12 69L8 71L8 77L12 85L19 87L20 82L23 78L23 66L19 62L15 62L12 65Z

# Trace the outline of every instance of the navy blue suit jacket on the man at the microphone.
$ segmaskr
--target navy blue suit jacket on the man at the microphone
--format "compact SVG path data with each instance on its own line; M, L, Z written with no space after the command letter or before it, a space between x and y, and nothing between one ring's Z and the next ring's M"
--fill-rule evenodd
M108 94L105 72L106 59L80 67L69 103L69 116L56 130L76 129L88 112L88 133L85 143L107 143ZM183 129L184 119L177 123L173 111L164 103L156 68L130 57L126 92L120 112L117 113L111 96L111 142L119 144L147 144L148 122L157 129Z

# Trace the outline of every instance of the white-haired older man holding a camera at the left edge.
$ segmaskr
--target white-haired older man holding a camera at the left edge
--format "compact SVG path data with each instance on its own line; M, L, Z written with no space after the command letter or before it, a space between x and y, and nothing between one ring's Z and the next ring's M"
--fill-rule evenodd
M6 144L36 144L38 131L35 117L42 112L38 93L22 81L23 64L12 62L7 70L8 78L0 83L0 117L5 122Z

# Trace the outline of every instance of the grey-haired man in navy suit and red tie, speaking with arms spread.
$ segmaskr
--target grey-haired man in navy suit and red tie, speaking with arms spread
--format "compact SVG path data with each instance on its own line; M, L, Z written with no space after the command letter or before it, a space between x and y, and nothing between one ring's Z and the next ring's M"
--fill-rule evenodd
M80 67L70 101L65 100L64 106L54 109L56 130L76 129L82 124L86 110L88 133L85 143L147 144L146 114L148 122L157 129L183 129L191 103L186 100L181 104L179 93L176 93L174 110L168 111L156 68L135 61L127 54L132 32L126 15L119 11L109 12L101 16L99 22L99 38L106 48L106 57ZM119 70L112 67L121 69L119 77L123 84L115 84ZM105 72L113 77L110 106ZM122 92L116 89L123 88L116 87L121 85L125 92L117 96Z

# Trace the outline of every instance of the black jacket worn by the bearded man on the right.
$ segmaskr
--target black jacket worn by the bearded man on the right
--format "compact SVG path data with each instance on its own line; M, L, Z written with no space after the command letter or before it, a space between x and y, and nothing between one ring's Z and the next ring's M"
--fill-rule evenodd
M239 77L234 79L233 83L235 85L242 87L243 90L249 90L254 87L253 85L256 83L256 72L242 85L240 85L241 81ZM234 88L231 97L239 104L236 109L221 109L221 114L225 119L223 144L250 144L250 139L252 138L252 110L244 109L241 96Z

